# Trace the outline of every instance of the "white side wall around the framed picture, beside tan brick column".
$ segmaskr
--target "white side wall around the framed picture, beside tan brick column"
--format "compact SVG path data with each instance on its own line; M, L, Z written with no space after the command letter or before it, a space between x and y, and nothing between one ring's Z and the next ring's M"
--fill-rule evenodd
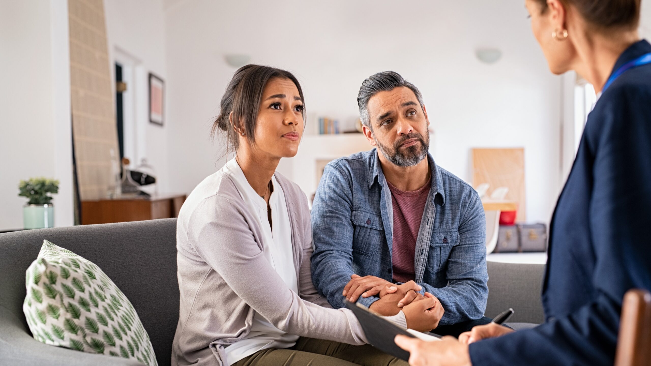
M133 115L125 116L125 124L133 122L133 128L128 129L126 139L133 138L133 146L125 148L126 156L130 158L132 167L146 158L156 169L159 191L169 193L169 173L167 135L169 133L169 116L163 127L149 122L148 115L148 74L152 72L166 82L167 70L165 63L165 25L162 0L105 0L106 33L111 62L111 77L115 79L116 59L128 58L135 68L133 83L127 85L128 93L133 96ZM119 50L119 51L118 51ZM128 83L129 84L129 83ZM113 85L115 90L115 85ZM129 94L128 94L129 95ZM128 96L127 95L127 96ZM124 96L124 98L127 98ZM171 100L169 94L165 102ZM126 101L125 101L126 102ZM163 103L163 107L167 107ZM130 126L125 126L129 128ZM130 139L131 141L131 139ZM125 141L129 143L129 141ZM133 148L132 148L133 147Z

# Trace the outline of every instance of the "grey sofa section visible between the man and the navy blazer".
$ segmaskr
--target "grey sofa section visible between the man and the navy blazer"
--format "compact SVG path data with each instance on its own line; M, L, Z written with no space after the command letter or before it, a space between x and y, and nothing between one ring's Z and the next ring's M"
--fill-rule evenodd
M542 280L544 264L491 262L488 265L488 303L486 317L493 318L512 307L515 311L508 322L541 324Z

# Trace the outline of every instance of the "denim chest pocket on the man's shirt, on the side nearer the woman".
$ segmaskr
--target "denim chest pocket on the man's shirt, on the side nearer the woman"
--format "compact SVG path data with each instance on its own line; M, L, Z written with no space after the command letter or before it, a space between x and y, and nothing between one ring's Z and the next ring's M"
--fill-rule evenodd
M384 238L382 217L366 211L353 210L351 220L355 226L353 251L368 256L377 253Z

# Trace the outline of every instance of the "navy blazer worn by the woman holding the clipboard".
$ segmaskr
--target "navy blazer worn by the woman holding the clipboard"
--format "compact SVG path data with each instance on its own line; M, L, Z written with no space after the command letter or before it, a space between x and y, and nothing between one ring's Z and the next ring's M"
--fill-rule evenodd
M650 52L633 44L613 72ZM624 293L651 290L651 64L588 116L549 236L546 322L471 344L473 365L613 365Z

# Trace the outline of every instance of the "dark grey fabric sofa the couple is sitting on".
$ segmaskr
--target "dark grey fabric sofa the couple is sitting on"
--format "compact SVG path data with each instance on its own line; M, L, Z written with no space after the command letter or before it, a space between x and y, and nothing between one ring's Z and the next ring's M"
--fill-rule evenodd
M158 364L169 365L178 321L176 219L0 234L0 365L141 365L49 346L32 338L22 310L25 270L36 259L44 239L92 260L113 279L133 303ZM543 267L489 262L486 315L494 317L513 307L513 322L542 322Z

